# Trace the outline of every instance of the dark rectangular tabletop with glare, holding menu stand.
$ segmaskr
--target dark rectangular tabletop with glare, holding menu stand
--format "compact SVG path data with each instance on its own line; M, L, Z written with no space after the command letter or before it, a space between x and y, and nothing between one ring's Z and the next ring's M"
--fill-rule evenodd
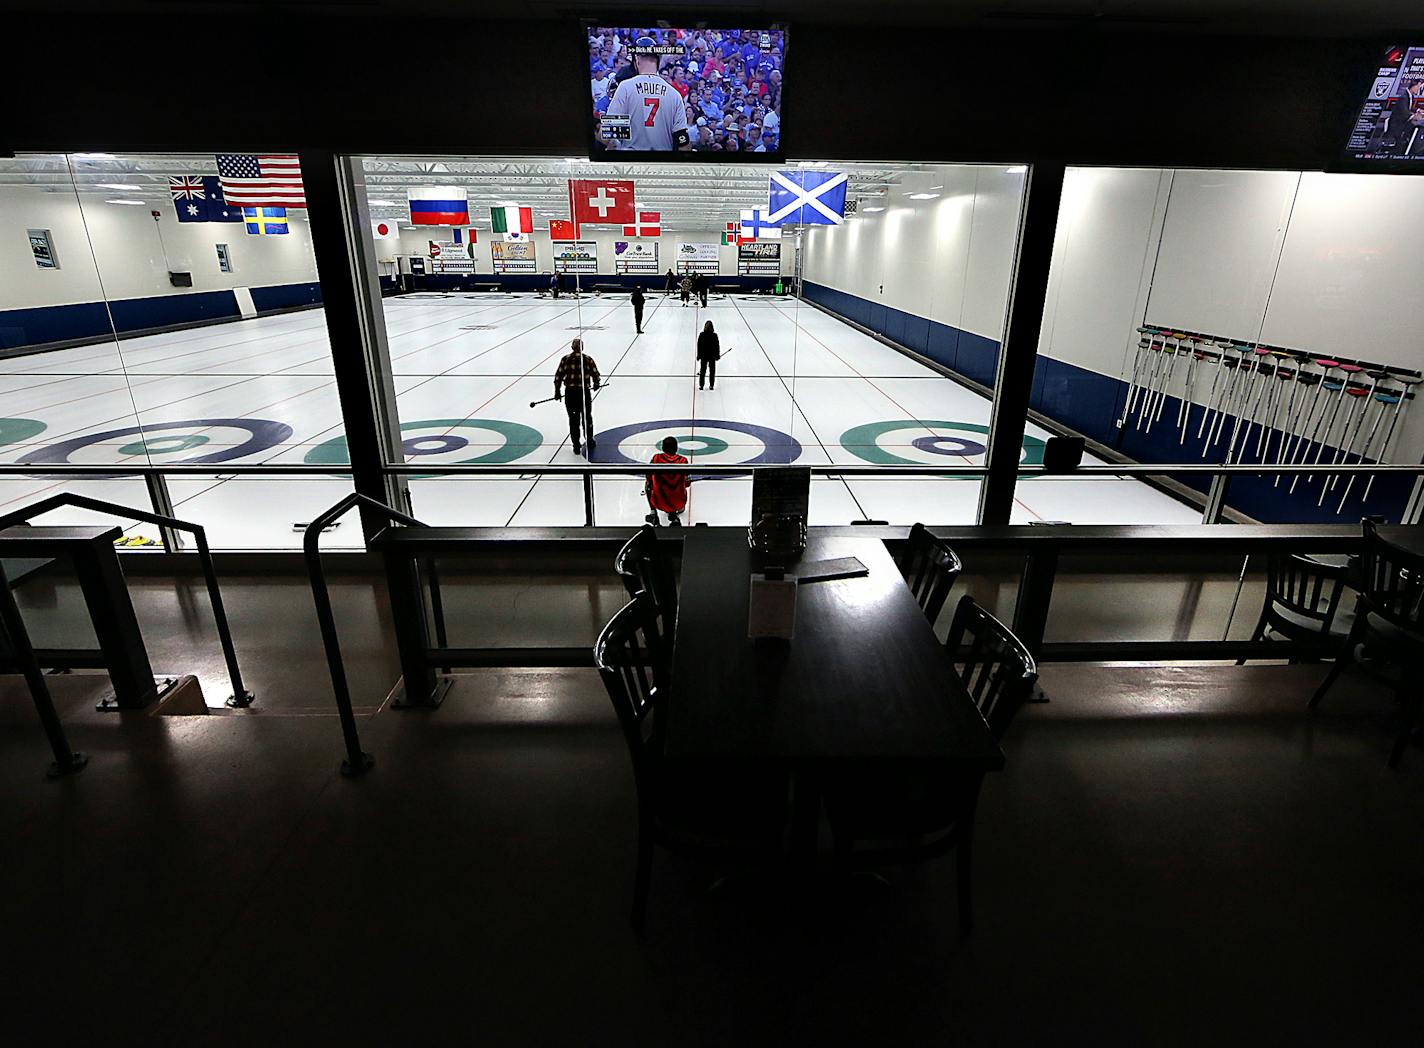
M812 533L802 560L832 557L859 557L870 574L797 587L795 639L750 641L746 533L684 533L668 758L1001 767L884 544Z

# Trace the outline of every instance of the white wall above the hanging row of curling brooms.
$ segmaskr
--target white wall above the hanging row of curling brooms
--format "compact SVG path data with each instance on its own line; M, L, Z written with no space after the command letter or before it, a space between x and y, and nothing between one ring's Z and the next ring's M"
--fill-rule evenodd
M1424 370L1421 229L1418 178L1071 168L1040 353L1126 379L1146 322Z

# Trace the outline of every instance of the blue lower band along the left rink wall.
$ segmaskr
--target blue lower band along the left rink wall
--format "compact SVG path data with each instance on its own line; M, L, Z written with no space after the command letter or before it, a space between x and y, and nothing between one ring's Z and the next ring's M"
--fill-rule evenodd
M252 305L259 313L318 305L320 300L319 283L252 288ZM231 290L115 299L108 303L108 309L103 302L6 309L0 310L0 349L107 339L112 333L110 312L114 316L114 329L120 333L208 323L239 315L238 300Z

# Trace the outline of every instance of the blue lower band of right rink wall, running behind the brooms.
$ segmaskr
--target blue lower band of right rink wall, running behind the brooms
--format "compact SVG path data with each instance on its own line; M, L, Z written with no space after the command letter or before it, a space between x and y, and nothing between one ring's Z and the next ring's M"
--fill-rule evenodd
M803 283L803 293L830 312L884 335L907 349L923 353L953 372L988 387L994 384L1000 349L994 339L914 318L910 313L900 313L889 306L877 306L856 295L847 295L809 281ZM899 316L894 316L896 313ZM918 337L917 332L924 330L924 325L928 325L926 347L920 349L920 346L913 345L913 340ZM896 337L893 332L897 330L904 337ZM1034 384L1028 403L1035 412L1096 440L1099 444L1115 447L1139 463L1219 464L1222 461L1226 454L1226 443L1230 440L1232 426L1236 421L1235 416L1226 416L1222 424L1225 436L1212 449L1205 447L1205 437L1196 439L1196 430L1202 421L1203 409L1200 404L1192 406L1190 421L1186 426L1188 439L1185 443L1180 440L1182 431L1176 429L1176 414L1182 402L1178 397L1166 397L1161 421L1152 426L1151 433L1146 431L1145 423L1139 429L1135 421L1119 433L1115 423L1126 403L1126 394L1128 384L1121 379L1099 374L1065 360L1040 356L1034 366ZM1134 419L1136 419L1136 413L1134 413ZM1239 454L1240 461L1260 461L1256 457L1257 443L1259 427L1252 430L1246 453ZM1313 460L1317 449L1317 444L1312 444L1306 459ZM1334 454L1336 449L1327 447L1321 453L1321 460L1330 461ZM1273 460L1274 457L1273 443L1267 459ZM1356 463L1360 459L1349 456L1347 461ZM1209 478L1193 478L1190 474L1183 474L1179 480L1202 493L1210 486ZM1336 508L1344 494L1346 481L1341 480L1333 493L1326 494L1324 503L1317 505L1321 483L1321 480L1307 483L1302 478L1294 494L1290 494L1289 478L1276 484L1273 477L1242 476L1232 481L1226 501L1232 508L1269 524L1339 524L1357 520L1366 513L1384 514L1387 520L1397 521L1404 513L1404 504L1414 486L1413 477L1381 476L1370 491L1370 501L1363 504L1360 496L1364 491L1364 483L1356 481L1350 501L1346 503L1341 513L1337 513Z

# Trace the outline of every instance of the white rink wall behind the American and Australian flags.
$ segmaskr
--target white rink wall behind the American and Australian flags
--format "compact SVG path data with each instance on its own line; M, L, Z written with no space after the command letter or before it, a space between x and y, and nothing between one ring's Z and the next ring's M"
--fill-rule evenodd
M28 229L50 231L58 269L36 266ZM70 188L0 187L0 309L315 282L305 211L288 212L288 231L253 236L242 222L179 222L167 201L135 206ZM231 273L218 266L218 243L228 245ZM192 273L192 288L174 288L169 271Z

